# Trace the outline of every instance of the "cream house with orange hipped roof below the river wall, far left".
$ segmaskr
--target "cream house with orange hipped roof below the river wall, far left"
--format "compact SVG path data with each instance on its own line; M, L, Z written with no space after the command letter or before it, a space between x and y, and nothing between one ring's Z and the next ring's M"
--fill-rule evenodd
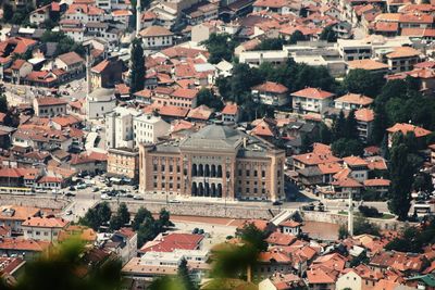
M30 217L23 222L22 228L25 239L53 242L58 240L59 232L66 227L69 222L58 217Z

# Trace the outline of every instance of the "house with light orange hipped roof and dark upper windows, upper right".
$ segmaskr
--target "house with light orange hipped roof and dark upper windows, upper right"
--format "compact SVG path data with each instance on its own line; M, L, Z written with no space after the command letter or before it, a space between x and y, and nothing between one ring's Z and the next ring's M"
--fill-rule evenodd
M398 47L385 55L391 73L408 72L421 61L421 52L411 47Z

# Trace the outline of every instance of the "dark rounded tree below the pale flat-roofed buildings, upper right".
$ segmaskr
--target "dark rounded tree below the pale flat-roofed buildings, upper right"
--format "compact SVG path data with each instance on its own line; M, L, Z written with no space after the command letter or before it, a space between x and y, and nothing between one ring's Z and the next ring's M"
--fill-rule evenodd
M373 74L366 70L351 70L343 80L346 91L376 97L385 84L382 74Z

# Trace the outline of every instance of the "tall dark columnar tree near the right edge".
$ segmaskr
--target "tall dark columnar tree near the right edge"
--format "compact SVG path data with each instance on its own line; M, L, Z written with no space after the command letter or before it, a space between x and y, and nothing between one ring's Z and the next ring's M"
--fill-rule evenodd
M411 207L411 189L415 165L401 134L395 136L390 154L389 176L391 186L388 209L391 213L398 215L399 220L406 220Z

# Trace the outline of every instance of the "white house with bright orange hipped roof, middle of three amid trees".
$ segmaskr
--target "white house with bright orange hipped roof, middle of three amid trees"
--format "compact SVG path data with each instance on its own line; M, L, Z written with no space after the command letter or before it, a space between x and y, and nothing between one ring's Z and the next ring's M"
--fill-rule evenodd
M313 112L323 114L330 108L334 93L320 88L304 88L291 94L295 112Z

